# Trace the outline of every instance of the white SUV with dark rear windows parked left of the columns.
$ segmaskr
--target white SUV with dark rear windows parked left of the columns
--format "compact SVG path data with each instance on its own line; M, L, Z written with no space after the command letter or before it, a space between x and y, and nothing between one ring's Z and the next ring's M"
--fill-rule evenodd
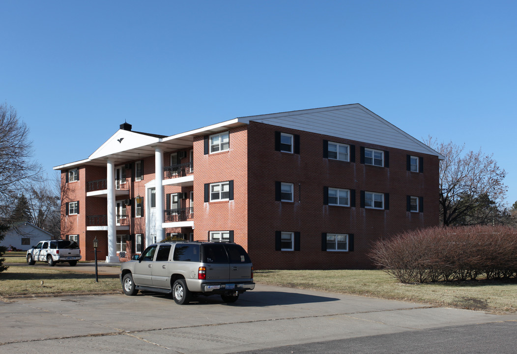
M81 249L75 241L50 240L41 241L37 246L27 251L27 264L34 265L36 261L47 262L50 267L58 262L77 264L81 259Z

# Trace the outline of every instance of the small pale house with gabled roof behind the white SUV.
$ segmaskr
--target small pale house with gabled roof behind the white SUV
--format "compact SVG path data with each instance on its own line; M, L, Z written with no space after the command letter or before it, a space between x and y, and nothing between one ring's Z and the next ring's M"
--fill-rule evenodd
M27 250L31 249L40 241L52 240L52 234L39 227L28 223L16 223L10 225L9 230L4 233L4 239L0 241L0 246L10 247Z

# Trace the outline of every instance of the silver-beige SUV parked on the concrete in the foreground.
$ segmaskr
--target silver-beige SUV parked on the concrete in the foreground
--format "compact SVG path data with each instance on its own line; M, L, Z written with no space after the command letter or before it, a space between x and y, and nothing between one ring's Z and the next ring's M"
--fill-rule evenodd
M253 290L253 265L235 243L165 242L147 247L141 256L122 263L120 281L126 295L139 290L172 293L177 304L200 295L220 294L235 302Z

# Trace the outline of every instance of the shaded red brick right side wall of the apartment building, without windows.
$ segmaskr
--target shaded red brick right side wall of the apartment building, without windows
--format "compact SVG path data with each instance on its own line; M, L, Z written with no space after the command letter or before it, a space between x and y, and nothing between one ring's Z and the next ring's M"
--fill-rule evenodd
M300 135L300 154L275 151L275 131ZM323 140L355 145L355 163L323 157ZM360 164L360 146L389 151L389 168ZM406 171L406 151L252 122L248 128L248 252L257 269L369 268L373 242L438 224L438 159ZM275 201L275 181L294 184L294 202ZM323 205L324 186L356 190L356 207ZM389 210L360 208L360 191L389 193ZM406 196L424 198L423 213ZM299 251L276 251L275 231L300 232ZM354 252L323 252L322 232L353 233Z

